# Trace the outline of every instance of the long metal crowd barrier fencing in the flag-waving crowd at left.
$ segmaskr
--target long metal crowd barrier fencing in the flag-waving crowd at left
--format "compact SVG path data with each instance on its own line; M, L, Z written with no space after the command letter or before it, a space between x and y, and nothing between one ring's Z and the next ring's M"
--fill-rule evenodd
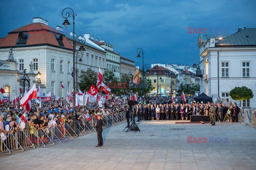
M114 126L125 122L125 113L119 112L113 115L103 116L103 128ZM79 135L86 134L86 132L96 131L94 126L97 124L96 118L88 120L77 121L77 133ZM0 154L15 150L35 149L37 147L45 147L47 145L55 145L78 137L73 128L73 123L59 124L46 129L33 130L17 130L13 133L7 133L6 139L0 138Z

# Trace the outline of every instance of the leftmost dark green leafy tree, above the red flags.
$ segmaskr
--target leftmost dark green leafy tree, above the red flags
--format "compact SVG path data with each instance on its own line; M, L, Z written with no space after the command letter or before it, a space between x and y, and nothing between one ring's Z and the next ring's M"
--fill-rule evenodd
M97 83L98 74L97 72L93 71L92 68L88 68L86 71L82 71L81 75L79 76L80 82L78 83L79 89L82 91L88 90L92 84Z

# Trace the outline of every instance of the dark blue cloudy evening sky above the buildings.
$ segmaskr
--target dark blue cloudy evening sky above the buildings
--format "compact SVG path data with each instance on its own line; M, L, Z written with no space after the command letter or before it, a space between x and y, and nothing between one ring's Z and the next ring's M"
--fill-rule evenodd
M143 49L144 64L198 63L199 33L188 33L188 27L206 28L206 34L218 34L210 31L212 28L228 34L239 27L256 28L255 0L0 0L0 37L31 23L34 17L47 20L53 28L62 26L65 7L77 13L77 36L90 33L105 40L115 52L140 67L142 58L137 58L137 48Z

